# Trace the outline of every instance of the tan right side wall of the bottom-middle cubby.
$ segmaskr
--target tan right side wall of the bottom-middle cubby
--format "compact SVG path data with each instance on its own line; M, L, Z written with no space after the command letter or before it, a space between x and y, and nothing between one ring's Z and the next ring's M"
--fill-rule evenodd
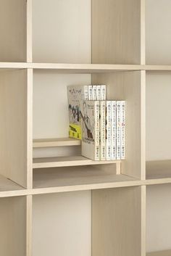
M141 188L92 191L92 256L141 255Z

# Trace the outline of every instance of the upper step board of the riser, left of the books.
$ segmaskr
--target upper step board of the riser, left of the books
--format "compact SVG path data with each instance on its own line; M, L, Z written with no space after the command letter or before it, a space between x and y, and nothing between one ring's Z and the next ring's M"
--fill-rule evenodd
M33 148L52 147L52 146L80 146L79 139L60 138L60 139L34 139Z

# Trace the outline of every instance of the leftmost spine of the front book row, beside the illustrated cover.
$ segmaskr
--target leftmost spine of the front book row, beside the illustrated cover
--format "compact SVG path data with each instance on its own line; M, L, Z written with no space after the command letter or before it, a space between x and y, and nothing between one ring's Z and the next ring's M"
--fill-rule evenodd
M99 101L94 102L94 113L95 113L95 137L94 137L94 147L95 147L95 160L100 160L100 109Z

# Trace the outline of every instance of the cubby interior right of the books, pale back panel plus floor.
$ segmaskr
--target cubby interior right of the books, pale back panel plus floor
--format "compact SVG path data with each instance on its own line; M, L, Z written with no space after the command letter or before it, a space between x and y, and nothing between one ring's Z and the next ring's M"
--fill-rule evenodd
M171 73L146 72L147 178L171 177Z

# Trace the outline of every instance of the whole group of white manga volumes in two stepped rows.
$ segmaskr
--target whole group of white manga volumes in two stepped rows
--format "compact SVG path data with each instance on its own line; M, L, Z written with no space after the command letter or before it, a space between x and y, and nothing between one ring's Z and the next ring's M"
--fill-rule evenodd
M125 101L106 101L104 85L68 86L67 94L69 136L82 139L82 155L92 160L125 159Z

